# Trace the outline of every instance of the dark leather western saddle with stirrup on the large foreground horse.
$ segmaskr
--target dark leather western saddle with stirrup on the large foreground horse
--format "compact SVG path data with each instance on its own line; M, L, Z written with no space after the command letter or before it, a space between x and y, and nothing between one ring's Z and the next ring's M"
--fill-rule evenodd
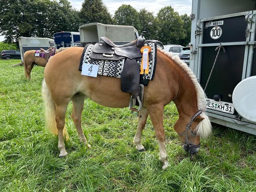
M116 45L107 37L100 37L103 42L98 42L93 47L91 59L112 60L117 61L125 59L124 66L121 74L121 90L123 92L131 93L130 110L141 110L143 98L139 98L139 81L140 81L140 67L139 62L142 58L141 47L144 45L149 46L145 41L144 34L142 33L135 41L129 42L124 45ZM148 55L149 60L152 59L152 54ZM139 109L135 109L135 103L139 103Z

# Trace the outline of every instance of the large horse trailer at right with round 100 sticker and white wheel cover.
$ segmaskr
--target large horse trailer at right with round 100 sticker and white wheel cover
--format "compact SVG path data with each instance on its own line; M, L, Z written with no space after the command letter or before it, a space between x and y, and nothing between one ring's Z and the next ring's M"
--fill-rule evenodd
M256 135L256 0L193 0L190 17L190 68L211 122Z

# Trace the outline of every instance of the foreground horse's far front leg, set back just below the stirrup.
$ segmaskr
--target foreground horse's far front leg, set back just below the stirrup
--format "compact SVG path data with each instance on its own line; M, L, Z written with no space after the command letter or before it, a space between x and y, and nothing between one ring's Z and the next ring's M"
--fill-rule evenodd
M144 146L141 144L142 131L145 128L148 117L148 110L145 107L142 107L139 111L139 124L136 135L134 137L134 145L138 151L146 151Z

